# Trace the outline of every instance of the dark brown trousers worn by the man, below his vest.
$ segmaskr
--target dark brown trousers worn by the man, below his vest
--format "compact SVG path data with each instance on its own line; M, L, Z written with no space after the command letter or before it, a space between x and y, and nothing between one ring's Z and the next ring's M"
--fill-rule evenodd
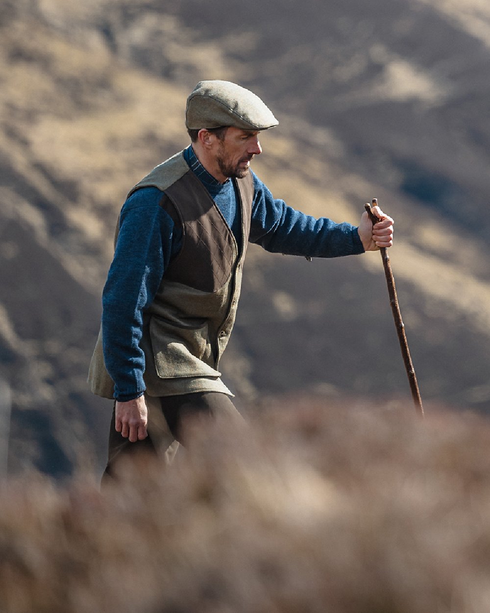
M162 455L171 463L179 444L185 444L183 424L188 417L219 414L238 415L232 400L220 392L195 392L160 398L145 394L148 406L148 436L142 441L131 443L116 431L116 403L112 413L109 433L108 460L102 482L114 476L116 462L132 454L150 453Z

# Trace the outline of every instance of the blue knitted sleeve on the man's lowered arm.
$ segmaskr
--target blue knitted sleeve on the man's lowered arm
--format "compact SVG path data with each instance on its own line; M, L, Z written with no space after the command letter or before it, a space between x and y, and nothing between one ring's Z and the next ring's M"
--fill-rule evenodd
M143 312L153 302L181 236L159 206L162 192L138 189L124 203L114 259L102 292L102 345L105 367L115 382L115 398L132 400L145 391L145 355L139 343Z

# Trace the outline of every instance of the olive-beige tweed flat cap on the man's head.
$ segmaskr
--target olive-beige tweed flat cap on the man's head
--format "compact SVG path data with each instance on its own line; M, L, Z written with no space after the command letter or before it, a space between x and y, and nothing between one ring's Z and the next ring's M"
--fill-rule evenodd
M187 98L186 128L191 130L266 130L278 123L258 96L229 81L200 81Z

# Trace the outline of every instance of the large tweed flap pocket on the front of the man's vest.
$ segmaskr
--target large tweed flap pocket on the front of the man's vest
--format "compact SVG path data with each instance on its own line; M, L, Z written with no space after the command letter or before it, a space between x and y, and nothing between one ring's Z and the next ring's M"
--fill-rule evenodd
M153 315L149 334L157 375L162 379L219 377L208 335L208 322L198 327Z

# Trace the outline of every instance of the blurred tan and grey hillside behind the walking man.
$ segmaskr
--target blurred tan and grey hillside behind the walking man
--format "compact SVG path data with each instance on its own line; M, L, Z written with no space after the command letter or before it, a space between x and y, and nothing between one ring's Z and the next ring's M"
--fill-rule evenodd
M254 170L295 208L356 223L377 197L421 394L490 402L490 8L477 0L1 0L0 376L10 470L104 462L86 370L127 190L186 146L202 78L280 120ZM223 363L261 394L409 395L378 254L251 249Z

